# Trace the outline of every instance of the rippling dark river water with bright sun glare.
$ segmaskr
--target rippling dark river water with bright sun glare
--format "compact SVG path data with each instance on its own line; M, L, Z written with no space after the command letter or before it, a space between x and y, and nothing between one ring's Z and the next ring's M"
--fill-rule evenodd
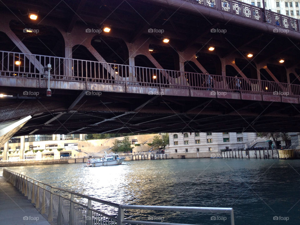
M237 225L300 224L300 160L168 159L8 169L118 204L233 207ZM131 217L147 216L163 222L230 224L229 213L143 211Z

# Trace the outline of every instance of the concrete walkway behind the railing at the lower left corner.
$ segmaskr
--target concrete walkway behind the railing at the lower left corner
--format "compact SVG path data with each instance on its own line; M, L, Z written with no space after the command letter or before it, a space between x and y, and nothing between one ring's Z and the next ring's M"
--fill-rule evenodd
M24 194L0 176L0 225L49 225Z

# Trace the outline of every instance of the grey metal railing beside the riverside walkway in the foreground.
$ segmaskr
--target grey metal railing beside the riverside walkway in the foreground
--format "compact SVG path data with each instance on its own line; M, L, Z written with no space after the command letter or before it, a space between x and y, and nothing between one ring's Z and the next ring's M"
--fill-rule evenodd
M175 212L210 212L230 213L231 224L234 225L232 208L221 207L176 207L176 206L147 206L147 205L119 205L113 202L100 200L87 195L68 191L63 188L53 187L36 179L3 169L3 177L15 186L24 196L31 200L37 210L52 224L57 225L180 225L180 223L151 222L141 220L127 220L124 217L126 210L151 210ZM81 198L80 203L75 199ZM104 204L106 207L118 209L118 216L114 217L92 207L92 202ZM139 214L140 215L140 214ZM214 222L214 221L212 221ZM182 224L185 225L185 224Z

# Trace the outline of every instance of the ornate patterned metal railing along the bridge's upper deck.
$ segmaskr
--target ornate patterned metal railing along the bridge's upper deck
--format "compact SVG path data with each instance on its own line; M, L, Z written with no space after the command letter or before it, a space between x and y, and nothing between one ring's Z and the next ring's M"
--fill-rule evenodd
M234 15L266 22L281 29L294 30L299 32L299 20L282 15L277 12L265 10L238 0L183 0L193 2L196 5L215 8L224 12L230 12ZM281 31L274 31L281 32ZM283 31L282 31L283 32Z

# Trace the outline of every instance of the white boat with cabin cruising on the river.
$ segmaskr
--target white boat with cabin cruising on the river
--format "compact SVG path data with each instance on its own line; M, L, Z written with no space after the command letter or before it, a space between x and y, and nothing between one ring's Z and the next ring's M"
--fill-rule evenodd
M125 157L120 158L118 154L115 153L106 153L103 158L98 159L88 159L86 166L87 167L96 167L96 166L111 166L122 164L125 160Z

